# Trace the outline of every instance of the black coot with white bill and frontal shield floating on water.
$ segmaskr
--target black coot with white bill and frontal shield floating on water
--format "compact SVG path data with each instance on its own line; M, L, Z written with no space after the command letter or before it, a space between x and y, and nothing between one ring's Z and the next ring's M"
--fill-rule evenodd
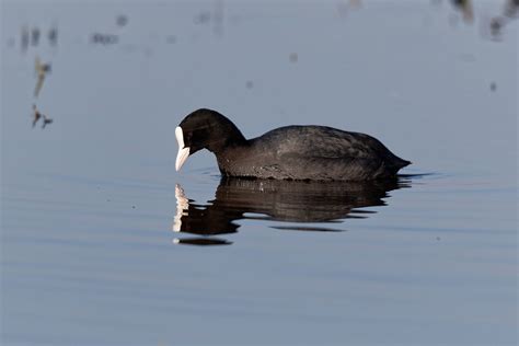
M222 175L276 180L370 181L395 176L411 162L378 139L326 126L286 126L245 139L220 113L201 108L175 129L178 171L200 149L214 152Z

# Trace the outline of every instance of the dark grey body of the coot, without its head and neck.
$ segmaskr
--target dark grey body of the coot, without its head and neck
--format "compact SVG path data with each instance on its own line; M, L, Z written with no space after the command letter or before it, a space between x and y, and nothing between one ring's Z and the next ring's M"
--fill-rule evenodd
M326 126L268 131L250 140L244 160L262 162L251 175L296 180L373 180L410 164L371 136Z

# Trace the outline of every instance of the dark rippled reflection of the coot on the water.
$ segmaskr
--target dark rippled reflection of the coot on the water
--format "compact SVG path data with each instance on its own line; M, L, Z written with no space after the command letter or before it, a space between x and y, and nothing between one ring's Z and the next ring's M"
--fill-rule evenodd
M361 208L384 206L388 192L410 187L408 177L377 182L305 182L222 177L216 198L198 204L175 187L176 216L173 231L196 234L174 239L176 244L228 245L215 235L238 232L239 220L287 222L270 226L293 231L339 232L330 228L346 218L366 218L376 211ZM315 227L314 223L323 223ZM307 226L308 224L308 226Z

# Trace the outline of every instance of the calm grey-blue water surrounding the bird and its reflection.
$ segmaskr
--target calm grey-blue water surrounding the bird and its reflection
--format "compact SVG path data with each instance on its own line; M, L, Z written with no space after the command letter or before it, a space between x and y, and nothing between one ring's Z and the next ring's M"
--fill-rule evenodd
M515 345L504 2L2 1L2 345ZM343 232L260 215L230 245L175 244L175 184L200 205L219 184L209 153L174 171L174 128L203 106L246 137L367 132L413 161L402 173L432 174L310 224Z

